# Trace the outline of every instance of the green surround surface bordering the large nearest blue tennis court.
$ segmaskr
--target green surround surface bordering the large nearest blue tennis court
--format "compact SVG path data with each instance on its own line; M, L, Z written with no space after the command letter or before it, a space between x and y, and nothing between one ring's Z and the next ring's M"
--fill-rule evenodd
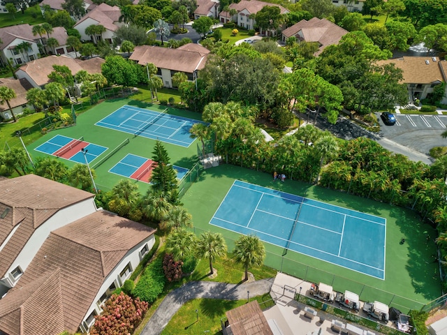
M360 299L364 301L391 303L391 306L404 312L409 308L419 309L441 295L439 269L434 262L436 246L433 241L436 234L429 225L420 223L413 211L298 181L274 183L270 174L255 170L221 165L203 172L200 181L193 184L182 198L184 206L193 215L196 234L205 230L221 232L226 237L229 250L232 250L235 239L240 235L217 228L209 222L235 179L297 195L306 194L307 198L363 211L387 220L385 280L291 251L281 257L283 249L267 243L265 265L307 281L332 284L337 291L361 292ZM404 244L400 244L402 238L405 239Z

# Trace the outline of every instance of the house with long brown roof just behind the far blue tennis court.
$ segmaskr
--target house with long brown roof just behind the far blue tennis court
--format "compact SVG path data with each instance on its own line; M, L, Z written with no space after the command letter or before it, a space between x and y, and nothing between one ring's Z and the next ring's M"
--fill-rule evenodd
M139 45L129 59L142 66L154 64L158 68L157 75L163 80L163 86L173 87L172 77L177 72L184 72L189 80L195 80L198 70L205 66L209 53L207 48L193 43L177 49Z

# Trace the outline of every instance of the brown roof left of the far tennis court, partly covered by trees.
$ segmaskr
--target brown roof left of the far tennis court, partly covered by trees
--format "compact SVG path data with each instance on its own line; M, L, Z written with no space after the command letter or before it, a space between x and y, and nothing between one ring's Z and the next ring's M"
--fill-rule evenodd
M27 64L20 66L16 71L24 71L31 77L38 86L42 86L50 82L48 75L52 73L53 65L65 65L71 70L71 73L75 75L80 70L87 70L89 73L101 73L101 65L104 59L95 59L94 61L89 59L87 61L81 61L80 59L73 59L61 56L48 56L39 58L34 61L29 61Z

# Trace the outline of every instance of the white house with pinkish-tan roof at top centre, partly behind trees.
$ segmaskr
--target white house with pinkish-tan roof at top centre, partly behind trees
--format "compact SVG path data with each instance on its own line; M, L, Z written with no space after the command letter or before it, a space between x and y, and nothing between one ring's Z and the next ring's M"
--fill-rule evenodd
M284 8L283 6L277 5L276 3L268 3L258 0L241 0L239 3L231 3L229 8L235 9L237 14L231 16L229 12L221 11L219 13L219 21L226 23L233 21L237 23L237 26L243 27L245 29L255 29L256 20L252 15L258 13L259 10L263 9L265 6L277 6L281 9L281 14L289 13L290 10ZM260 31L261 34L274 35L274 31Z

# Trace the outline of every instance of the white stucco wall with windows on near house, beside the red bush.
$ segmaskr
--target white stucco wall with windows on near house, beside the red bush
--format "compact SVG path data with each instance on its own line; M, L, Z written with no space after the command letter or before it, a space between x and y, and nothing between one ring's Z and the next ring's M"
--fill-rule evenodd
M124 258L122 258L121 262L113 269L110 274L105 278L103 285L101 285L101 288L98 290L98 294L93 299L93 304L91 304L89 310L84 316L84 319L82 320L82 325L84 324L85 320L91 315L93 311L96 311L96 314L99 315L102 311L101 306L98 306L97 301L102 297L102 295L108 290L110 285L112 283L115 283L116 287L119 288L122 286L121 278L119 278L119 273L126 267L126 265L130 262L131 263L131 271L135 269L135 267L138 267L140 264L141 258L140 258L140 250L147 244L147 248L150 251L152 249L152 246L155 244L155 235L152 234L151 236L147 237L144 241L142 241L140 244L132 248ZM131 274L127 278L129 278ZM127 279L126 278L126 279ZM89 325L91 326L91 325ZM84 326L81 326L81 329L85 328ZM87 331L87 329L83 329L84 331Z

